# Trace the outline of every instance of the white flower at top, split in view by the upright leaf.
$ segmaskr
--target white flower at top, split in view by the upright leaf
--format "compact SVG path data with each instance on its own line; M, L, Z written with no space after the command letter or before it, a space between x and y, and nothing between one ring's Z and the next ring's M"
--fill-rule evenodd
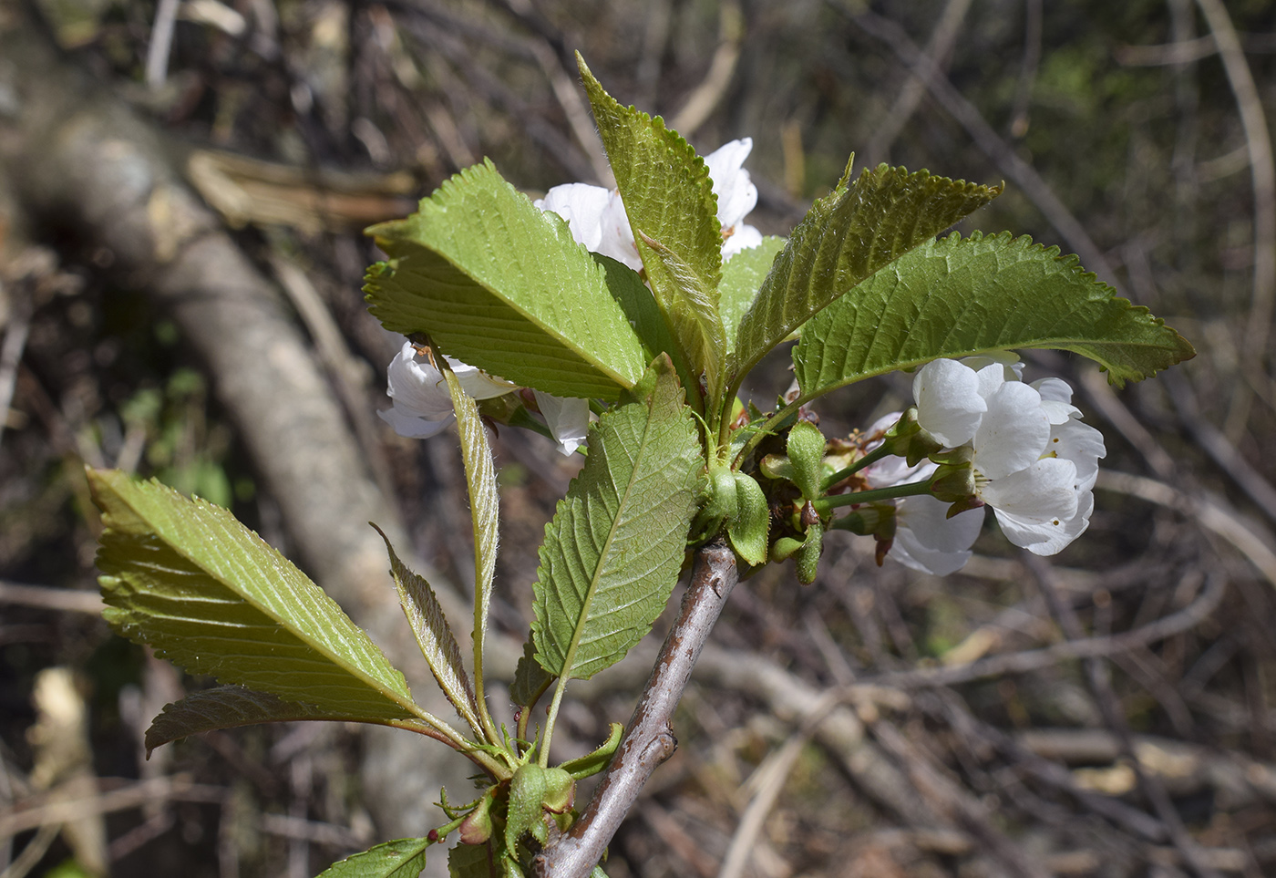
M731 140L704 157L713 194L717 195L722 259L762 244L762 232L744 225L744 218L758 204L758 188L743 167L750 149L753 139L744 138ZM572 237L592 253L611 257L634 271L642 268L625 205L615 190L568 182L554 186L535 204L567 220Z

